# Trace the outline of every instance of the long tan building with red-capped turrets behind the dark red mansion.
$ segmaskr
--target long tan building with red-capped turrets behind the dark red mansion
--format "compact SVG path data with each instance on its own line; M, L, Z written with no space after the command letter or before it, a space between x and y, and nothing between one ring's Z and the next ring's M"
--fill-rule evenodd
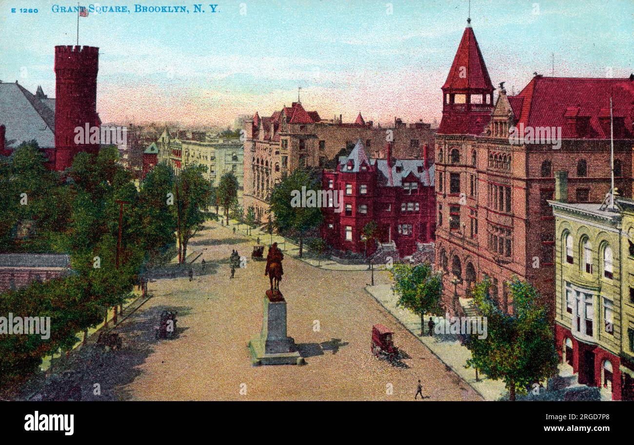
M386 141L392 141L396 158L418 158L423 144L433 146L429 124L406 124L394 120L394 127L380 127L359 113L352 123L339 118L324 120L316 111L307 112L299 102L285 106L270 117L245 122L244 198L245 212L254 209L260 221L268 218L271 190L284 174L299 167L336 165L341 155L349 155L356 141L363 141L374 158L384 158Z

